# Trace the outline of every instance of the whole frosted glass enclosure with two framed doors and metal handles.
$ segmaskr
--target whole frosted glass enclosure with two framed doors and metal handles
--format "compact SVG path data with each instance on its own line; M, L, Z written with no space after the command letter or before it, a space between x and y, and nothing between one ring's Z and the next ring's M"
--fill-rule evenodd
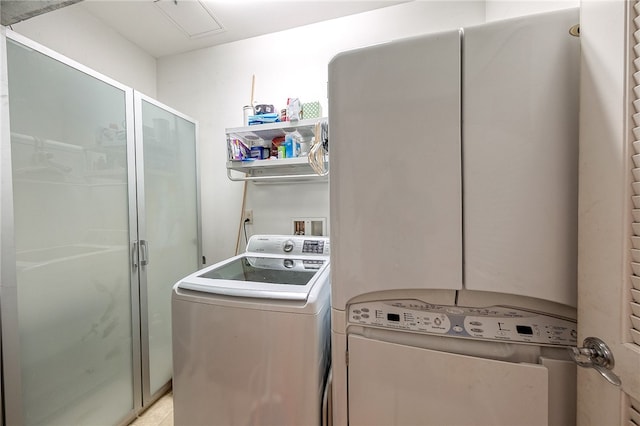
M171 287L201 266L197 124L9 31L7 64L5 421L126 423L170 386Z

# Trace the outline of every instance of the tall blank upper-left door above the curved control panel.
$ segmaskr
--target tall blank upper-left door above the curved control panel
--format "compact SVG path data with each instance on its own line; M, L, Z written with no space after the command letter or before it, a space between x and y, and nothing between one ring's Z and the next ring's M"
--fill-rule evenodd
M462 288L460 96L458 30L329 64L334 308L375 291Z

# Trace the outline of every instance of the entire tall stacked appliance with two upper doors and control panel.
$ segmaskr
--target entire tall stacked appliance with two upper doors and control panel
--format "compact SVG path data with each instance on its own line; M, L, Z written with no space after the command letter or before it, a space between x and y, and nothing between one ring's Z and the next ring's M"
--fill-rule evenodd
M332 60L334 424L575 422L578 19Z

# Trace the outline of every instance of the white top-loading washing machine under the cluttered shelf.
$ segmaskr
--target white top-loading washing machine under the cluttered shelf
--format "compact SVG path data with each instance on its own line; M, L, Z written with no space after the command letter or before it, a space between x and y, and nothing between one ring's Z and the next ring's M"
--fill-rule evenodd
M321 424L328 238L254 235L173 287L172 325L175 424Z

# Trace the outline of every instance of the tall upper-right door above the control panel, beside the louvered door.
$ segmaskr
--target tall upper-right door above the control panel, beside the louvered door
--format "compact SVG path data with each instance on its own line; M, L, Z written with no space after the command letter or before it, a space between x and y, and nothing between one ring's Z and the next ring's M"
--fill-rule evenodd
M578 21L569 9L464 30L469 290L576 306Z

